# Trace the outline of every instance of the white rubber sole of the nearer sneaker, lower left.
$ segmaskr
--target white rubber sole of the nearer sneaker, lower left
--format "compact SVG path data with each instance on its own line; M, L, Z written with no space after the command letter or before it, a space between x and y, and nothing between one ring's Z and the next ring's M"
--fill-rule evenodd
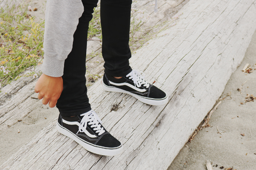
M84 149L92 152L92 153L96 153L98 155L105 155L105 156L116 156L122 153L123 151L123 146L121 145L120 147L116 147L116 148L108 148L108 147L100 147L94 144L90 144L80 138L78 138L74 133L70 132L70 130L68 130L67 128L61 126L58 122L57 122L57 130L59 133L73 139L74 141L76 141L78 144L80 144L82 147L84 147Z

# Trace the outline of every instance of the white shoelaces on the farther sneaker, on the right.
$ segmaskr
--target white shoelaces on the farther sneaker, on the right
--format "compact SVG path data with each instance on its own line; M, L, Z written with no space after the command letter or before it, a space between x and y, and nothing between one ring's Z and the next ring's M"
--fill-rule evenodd
M148 88L150 84L144 80L145 76L142 76L140 72L144 74L142 71L133 70L131 73L127 74L126 77L129 77L129 79L133 80L134 85L137 85L138 88L143 84L144 87Z

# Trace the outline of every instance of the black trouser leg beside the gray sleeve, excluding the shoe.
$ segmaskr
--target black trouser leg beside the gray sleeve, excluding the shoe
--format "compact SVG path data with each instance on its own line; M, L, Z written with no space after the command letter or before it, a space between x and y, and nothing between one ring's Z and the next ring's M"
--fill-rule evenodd
M74 33L73 48L64 64L63 91L57 102L61 116L75 116L90 111L85 79L87 31L98 0L82 0L84 13Z

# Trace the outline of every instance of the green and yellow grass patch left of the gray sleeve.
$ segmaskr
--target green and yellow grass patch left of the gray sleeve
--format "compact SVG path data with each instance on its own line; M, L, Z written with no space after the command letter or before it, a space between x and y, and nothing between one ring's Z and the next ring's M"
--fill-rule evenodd
M21 7L0 8L0 84L19 78L26 68L40 64L44 52L44 21Z

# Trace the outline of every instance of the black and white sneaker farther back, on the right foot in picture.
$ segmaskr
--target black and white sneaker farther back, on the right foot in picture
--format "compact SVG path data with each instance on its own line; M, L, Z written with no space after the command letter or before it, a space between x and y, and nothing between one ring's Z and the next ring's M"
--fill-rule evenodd
M104 74L102 87L105 91L130 94L140 102L148 105L164 105L168 102L168 95L146 82L144 77L136 70L131 71L120 79Z

